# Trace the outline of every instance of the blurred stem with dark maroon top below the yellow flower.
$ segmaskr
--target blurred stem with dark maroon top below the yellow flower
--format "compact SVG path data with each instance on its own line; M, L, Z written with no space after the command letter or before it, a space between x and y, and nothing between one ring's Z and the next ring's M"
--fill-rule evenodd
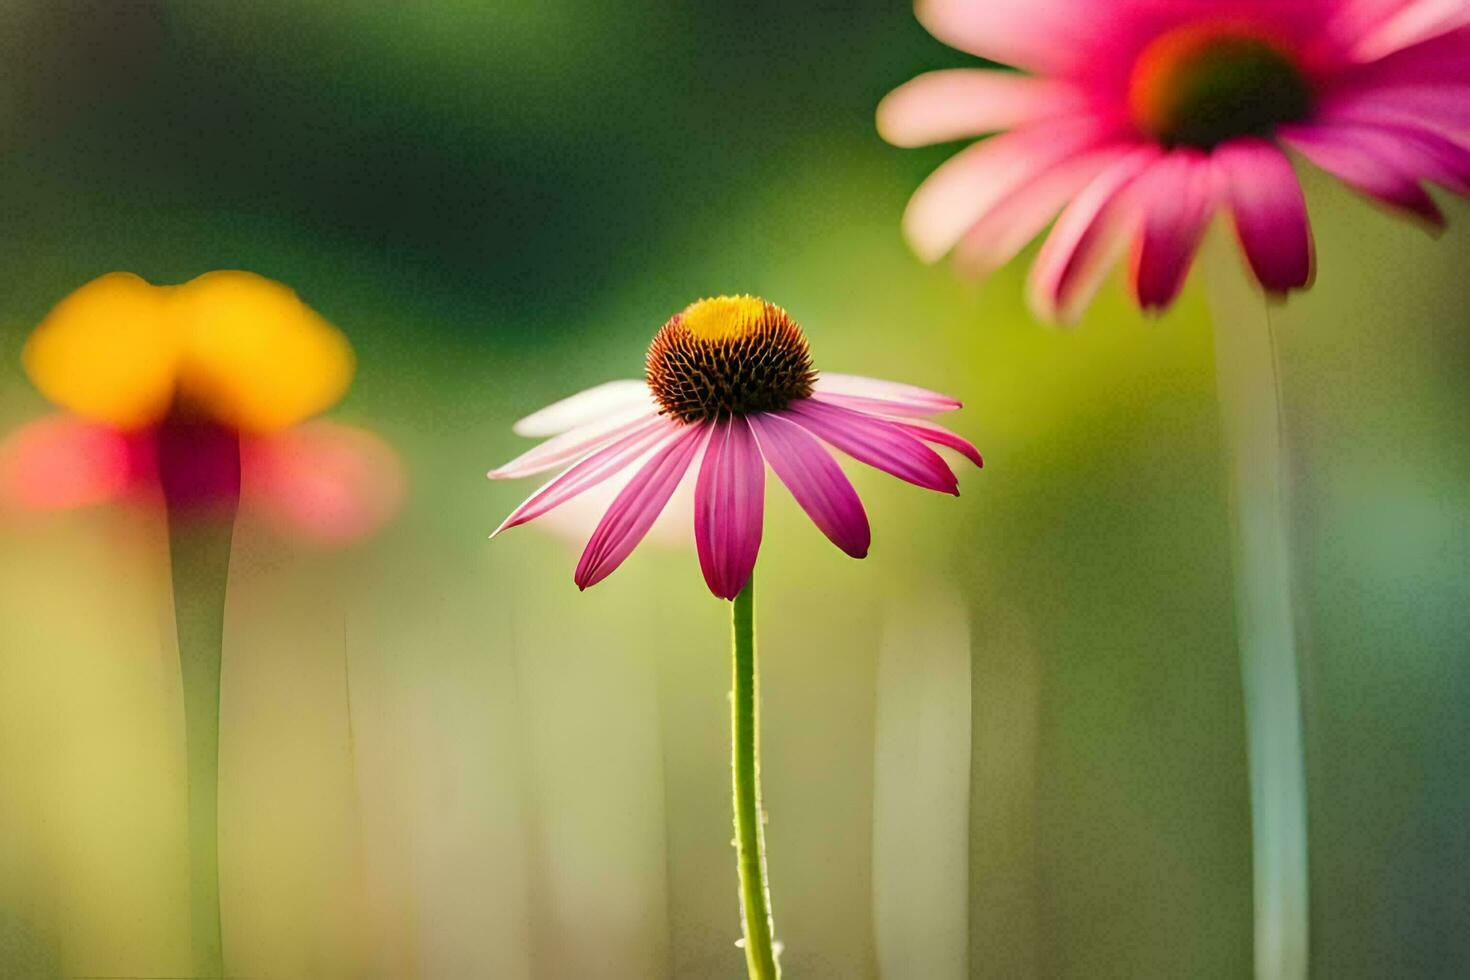
M240 502L232 432L169 420L159 436L184 688L193 977L223 977L219 915L219 674Z

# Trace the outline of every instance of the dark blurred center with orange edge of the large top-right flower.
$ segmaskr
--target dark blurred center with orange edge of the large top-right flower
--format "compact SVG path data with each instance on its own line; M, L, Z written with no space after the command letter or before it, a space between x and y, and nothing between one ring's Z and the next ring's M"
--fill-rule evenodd
M1155 38L1133 63L1129 109L1169 147L1208 150L1307 118L1311 85L1291 50L1251 25L1191 24Z

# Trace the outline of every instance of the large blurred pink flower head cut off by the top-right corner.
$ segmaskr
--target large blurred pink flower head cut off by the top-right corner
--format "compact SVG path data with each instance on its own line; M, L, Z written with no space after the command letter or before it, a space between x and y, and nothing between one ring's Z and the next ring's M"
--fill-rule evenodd
M904 216L933 262L983 275L1060 212L1030 269L1072 320L1132 241L1148 310L1177 295L1216 209L1269 292L1307 287L1313 245L1285 148L1430 225L1421 187L1470 192L1464 0L920 0L947 44L1013 65L939 71L878 110L923 145L1001 132L941 166Z

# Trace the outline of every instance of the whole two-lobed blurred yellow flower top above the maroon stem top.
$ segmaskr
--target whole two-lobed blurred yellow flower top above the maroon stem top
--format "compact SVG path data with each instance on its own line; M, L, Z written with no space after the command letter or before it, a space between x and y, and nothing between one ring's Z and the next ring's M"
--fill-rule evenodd
M47 398L85 419L138 429L178 404L257 433L331 407L354 369L337 328L250 272L179 287L104 275L51 310L24 360Z

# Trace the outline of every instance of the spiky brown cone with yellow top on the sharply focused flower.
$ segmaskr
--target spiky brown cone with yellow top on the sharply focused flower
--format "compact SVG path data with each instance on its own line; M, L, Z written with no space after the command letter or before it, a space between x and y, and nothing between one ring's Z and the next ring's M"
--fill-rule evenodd
M704 422L779 411L811 394L816 375L801 328L756 297L692 303L654 335L648 386L664 414Z

